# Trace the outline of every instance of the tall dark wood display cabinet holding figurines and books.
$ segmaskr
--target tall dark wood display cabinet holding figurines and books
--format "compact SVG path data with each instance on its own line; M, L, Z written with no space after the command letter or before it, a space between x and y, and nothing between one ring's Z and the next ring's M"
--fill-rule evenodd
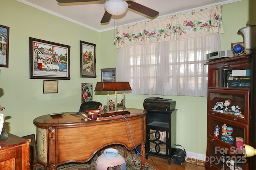
M230 170L226 161L235 160L235 170L255 170L256 156L244 157L242 146L256 148L256 55L251 53L209 61L206 65L205 168Z

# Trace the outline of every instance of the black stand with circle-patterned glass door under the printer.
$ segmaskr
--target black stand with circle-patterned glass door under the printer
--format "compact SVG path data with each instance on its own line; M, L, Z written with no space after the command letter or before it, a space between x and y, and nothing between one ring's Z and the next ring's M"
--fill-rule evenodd
M162 102L163 101L161 101L161 103ZM171 102L175 101L169 101L169 105ZM156 102L154 103L156 104ZM159 107L157 107L158 110L154 110L154 107L152 107L152 105L150 109L147 109L147 105L149 104L145 104L144 100L144 109L147 110L146 159L148 159L148 155L158 156L168 159L168 163L171 164L173 152L176 149L177 109L173 109L171 111L167 109L168 111L165 111L166 109L161 110L159 109Z

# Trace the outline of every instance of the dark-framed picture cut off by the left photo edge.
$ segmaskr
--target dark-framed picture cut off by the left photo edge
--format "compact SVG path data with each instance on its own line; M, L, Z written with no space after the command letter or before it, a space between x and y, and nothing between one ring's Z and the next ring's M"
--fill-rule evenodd
M9 27L0 25L0 67L9 63Z

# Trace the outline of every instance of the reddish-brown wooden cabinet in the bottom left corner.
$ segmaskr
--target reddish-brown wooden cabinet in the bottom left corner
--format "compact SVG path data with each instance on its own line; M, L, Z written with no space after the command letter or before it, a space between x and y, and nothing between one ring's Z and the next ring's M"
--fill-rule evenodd
M29 170L29 141L8 135L8 139L0 141L0 170Z

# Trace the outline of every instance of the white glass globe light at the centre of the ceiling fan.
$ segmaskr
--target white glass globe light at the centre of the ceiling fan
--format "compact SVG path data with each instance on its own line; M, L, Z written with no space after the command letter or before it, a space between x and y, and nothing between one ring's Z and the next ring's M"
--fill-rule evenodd
M128 9L127 2L123 0L108 0L105 2L104 6L106 11L113 16L122 15Z

